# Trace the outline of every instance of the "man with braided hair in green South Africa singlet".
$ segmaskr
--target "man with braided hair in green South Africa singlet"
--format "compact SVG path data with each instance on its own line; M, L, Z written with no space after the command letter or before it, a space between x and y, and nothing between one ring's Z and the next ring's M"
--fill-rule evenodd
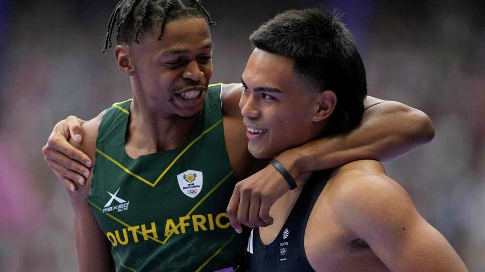
M272 224L269 207L289 185L271 165L236 185L257 168L246 135L264 138L267 131L243 124L240 84L208 85L210 23L197 0L116 6L104 50L116 26L116 63L130 77L133 99L113 104L82 131L75 118L58 123L43 149L60 180L80 180L68 193L81 270L235 268L247 240L230 225L241 232L239 223ZM371 97L364 109L362 124L345 137L294 147L277 160L297 177L361 158L394 158L432 138L420 111ZM69 134L80 151L66 142Z

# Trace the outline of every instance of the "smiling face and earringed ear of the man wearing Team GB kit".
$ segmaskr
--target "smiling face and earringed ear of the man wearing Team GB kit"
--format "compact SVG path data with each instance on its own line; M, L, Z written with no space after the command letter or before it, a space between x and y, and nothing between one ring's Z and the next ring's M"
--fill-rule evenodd
M255 158L275 157L318 137L334 107L333 92L306 90L293 66L291 58L256 48L241 76L245 91L239 108Z

